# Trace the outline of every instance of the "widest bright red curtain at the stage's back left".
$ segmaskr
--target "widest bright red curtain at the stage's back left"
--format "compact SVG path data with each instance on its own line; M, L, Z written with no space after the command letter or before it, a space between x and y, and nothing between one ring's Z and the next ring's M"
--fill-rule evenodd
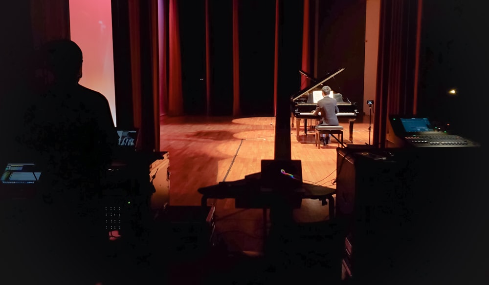
M168 114L183 115L183 95L181 79L180 36L178 26L177 0L170 0L169 8L169 78L168 78Z

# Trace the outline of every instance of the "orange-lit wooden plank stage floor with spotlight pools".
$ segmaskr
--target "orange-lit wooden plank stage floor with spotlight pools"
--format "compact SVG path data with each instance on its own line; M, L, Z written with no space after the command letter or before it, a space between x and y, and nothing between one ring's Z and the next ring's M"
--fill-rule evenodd
M368 119L356 120L354 144L369 143ZM261 160L274 156L274 117L162 117L160 122L160 150L170 154L170 205L200 205L200 187L244 179L260 172ZM349 142L348 122L340 125L344 126L345 142ZM290 129L291 158L301 160L304 182L335 188L338 143L332 139L318 149L313 130L306 136L301 124L297 140L295 127ZM235 208L234 199L210 203L216 204L216 236L228 250L262 250L262 210ZM303 200L301 208L294 210L294 219L328 220L328 206L318 200Z

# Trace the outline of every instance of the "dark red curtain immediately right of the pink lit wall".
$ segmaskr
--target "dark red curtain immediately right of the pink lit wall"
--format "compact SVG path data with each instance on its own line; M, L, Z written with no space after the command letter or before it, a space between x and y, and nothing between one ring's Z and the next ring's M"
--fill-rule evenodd
M114 66L122 64L129 67L114 74L117 106L129 111L127 116L117 116L117 125L139 128L139 146L143 151L159 151L160 140L156 3L133 0L112 5L118 11L115 13L119 15L118 19L127 19L127 24L113 27L114 35L117 35L114 37L114 46L117 46L114 55L120 56L114 58ZM124 65L123 62L128 60L131 65ZM130 83L126 82L127 79ZM119 95L117 87L120 90L124 86L131 87L132 93ZM120 114L119 109L117 112Z

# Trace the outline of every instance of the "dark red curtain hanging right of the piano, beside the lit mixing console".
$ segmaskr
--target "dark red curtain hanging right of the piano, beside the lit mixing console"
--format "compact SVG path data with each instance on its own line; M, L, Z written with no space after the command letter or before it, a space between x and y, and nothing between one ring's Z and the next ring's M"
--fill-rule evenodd
M384 147L389 115L416 111L417 46L422 0L380 3L377 94L373 143Z

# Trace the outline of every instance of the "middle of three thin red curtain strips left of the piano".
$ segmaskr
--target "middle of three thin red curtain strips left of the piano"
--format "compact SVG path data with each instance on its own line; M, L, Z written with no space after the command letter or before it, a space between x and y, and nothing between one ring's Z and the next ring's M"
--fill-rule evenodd
M240 45L238 0L233 0L233 116L240 116Z

